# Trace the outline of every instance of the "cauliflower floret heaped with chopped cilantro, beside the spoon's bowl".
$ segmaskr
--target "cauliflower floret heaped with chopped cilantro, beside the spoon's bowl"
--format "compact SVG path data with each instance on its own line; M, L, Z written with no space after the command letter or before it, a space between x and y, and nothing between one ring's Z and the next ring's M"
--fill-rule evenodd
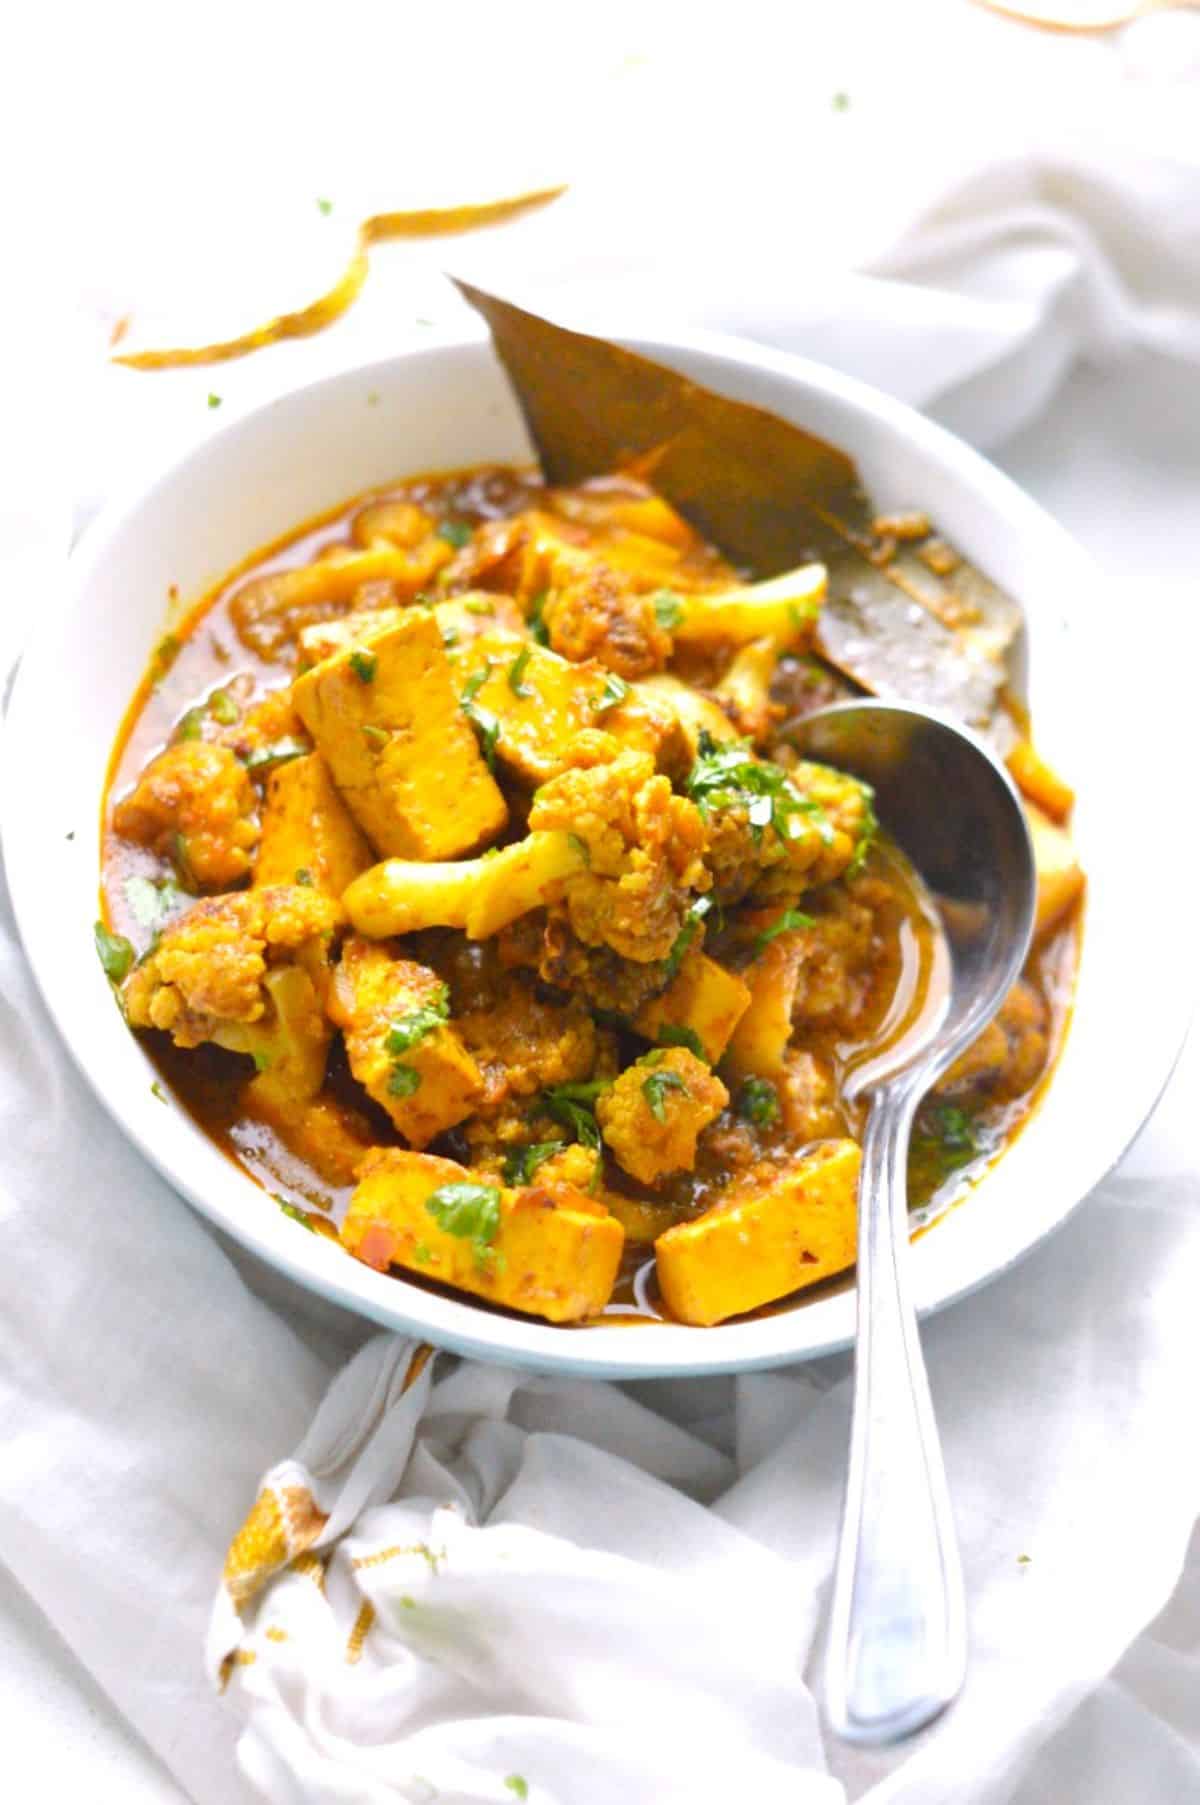
M707 735L686 789L707 825L718 902L794 901L841 877L875 830L872 792L857 778L803 762L785 771Z

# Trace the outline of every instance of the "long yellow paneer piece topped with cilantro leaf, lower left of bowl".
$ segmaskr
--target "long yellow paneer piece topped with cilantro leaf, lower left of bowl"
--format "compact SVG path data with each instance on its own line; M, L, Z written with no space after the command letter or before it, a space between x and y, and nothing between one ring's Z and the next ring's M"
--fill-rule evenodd
M379 1273L408 1267L509 1310L574 1323L608 1303L624 1231L585 1191L480 1184L451 1159L381 1148L363 1162L341 1240Z

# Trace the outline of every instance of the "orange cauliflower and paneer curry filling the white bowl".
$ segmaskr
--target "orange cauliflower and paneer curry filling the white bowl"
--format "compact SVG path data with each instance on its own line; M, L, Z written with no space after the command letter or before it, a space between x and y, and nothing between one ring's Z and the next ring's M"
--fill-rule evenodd
M953 558L918 514L872 532ZM938 928L866 785L790 745L859 693L826 592L817 560L747 581L641 475L509 466L242 567L110 774L97 948L162 1083L307 1227L489 1307L713 1325L846 1273L850 1079ZM1070 1004L1072 798L1009 713L1038 935L922 1105L922 1222L1029 1115Z

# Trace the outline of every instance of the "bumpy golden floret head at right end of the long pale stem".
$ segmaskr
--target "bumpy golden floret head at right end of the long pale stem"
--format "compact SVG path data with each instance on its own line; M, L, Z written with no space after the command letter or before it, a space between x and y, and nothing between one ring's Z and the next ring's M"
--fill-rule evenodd
M669 955L693 893L709 886L706 834L695 803L671 792L648 753L563 771L536 792L529 825L568 832L586 848L586 870L565 883L585 946L610 946L639 964Z

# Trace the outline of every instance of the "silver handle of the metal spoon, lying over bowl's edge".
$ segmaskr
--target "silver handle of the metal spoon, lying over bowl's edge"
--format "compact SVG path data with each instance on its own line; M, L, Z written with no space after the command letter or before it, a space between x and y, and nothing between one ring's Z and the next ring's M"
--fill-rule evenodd
M967 1664L962 1563L908 1285L908 1139L920 1088L882 1085L863 1139L857 1350L826 1713L846 1742L931 1722Z

